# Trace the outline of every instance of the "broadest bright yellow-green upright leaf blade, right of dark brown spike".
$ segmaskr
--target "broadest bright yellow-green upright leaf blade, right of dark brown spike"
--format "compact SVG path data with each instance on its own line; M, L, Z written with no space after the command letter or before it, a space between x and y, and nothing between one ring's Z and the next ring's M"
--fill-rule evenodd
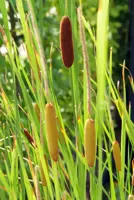
M105 108L105 71L107 66L107 29L108 29L108 10L109 1L100 0L97 13L97 44L96 44L96 62L97 62L97 112L96 127L98 135L99 152L99 177L98 186L102 185L102 136ZM102 197L102 188L98 188L98 199Z

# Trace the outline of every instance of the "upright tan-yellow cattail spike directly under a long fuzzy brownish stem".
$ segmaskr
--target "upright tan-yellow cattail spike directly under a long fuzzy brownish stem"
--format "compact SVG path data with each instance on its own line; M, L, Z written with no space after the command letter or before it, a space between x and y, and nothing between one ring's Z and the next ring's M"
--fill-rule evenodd
M87 119L84 128L85 157L89 167L93 167L96 157L96 133L93 119Z

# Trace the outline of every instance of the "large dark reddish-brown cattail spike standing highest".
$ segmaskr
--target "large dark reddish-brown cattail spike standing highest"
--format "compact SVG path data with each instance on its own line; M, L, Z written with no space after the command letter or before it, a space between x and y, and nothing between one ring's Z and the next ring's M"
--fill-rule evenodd
M71 67L74 62L74 49L72 25L68 16L62 17L60 22L60 48L64 65Z

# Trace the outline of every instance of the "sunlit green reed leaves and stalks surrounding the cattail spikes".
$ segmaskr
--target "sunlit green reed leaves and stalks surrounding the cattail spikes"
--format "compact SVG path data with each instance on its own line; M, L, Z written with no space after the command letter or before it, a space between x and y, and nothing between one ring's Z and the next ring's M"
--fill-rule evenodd
M10 3L14 5L12 1ZM42 5L43 1L40 0L40 3ZM82 15L82 1L77 2L77 6L81 6L81 12L76 7L76 1L59 0L59 5L60 16L68 15L71 19L74 42L74 64L66 69L73 104L71 127L66 124L62 116L54 90L54 66L50 67L46 62L42 33L39 31L43 20L42 7L38 21L34 12L35 1L17 0L14 7L15 12L19 13L18 20L25 40L28 62L28 68L26 68L11 36L6 1L1 0L0 34L7 49L4 58L10 66L13 84L9 96L0 83L0 198L83 200L86 197L89 199L90 193L91 199L101 200L102 194L105 193L107 199L125 200L132 193L131 152L126 149L126 137L133 146L134 125L130 120L131 108L129 111L126 108L124 76L122 77L123 98L112 80L112 49L108 48L107 36L109 1L98 1L96 35L88 24L90 19L85 19ZM80 26L83 29L83 37L80 36ZM87 50L85 32L88 32L88 37L95 48L94 62L97 80L93 80L90 73L90 52ZM78 48L81 50L79 51ZM82 51L83 48L84 51ZM59 56L58 51L57 56ZM80 57L83 60L82 66L78 62ZM60 67L64 67L62 62ZM126 70L123 63L122 72L125 73ZM18 94L18 84L20 94ZM88 98L89 94L90 98ZM46 103L54 105L59 120L57 128L60 139L57 162L52 160L48 151L45 127ZM39 107L40 119L34 109L35 104ZM111 104L115 105L121 117L120 172L112 167L114 162L112 143L119 133L114 131L114 121L110 112ZM64 105L65 111L67 106ZM84 157L84 125L88 118L95 120L97 134L96 163L92 168L88 166ZM27 139L24 128L31 135L33 145ZM128 154L127 162L125 162L126 153ZM46 186L42 184L41 166ZM108 189L102 184L105 170L108 170L110 176Z

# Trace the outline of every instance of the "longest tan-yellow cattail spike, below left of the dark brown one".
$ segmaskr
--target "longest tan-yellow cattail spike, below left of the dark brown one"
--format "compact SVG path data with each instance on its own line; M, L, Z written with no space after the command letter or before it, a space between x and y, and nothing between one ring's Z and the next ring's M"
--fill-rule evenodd
M52 104L45 106L46 136L48 149L54 161L58 160L58 131L56 127L56 114Z

